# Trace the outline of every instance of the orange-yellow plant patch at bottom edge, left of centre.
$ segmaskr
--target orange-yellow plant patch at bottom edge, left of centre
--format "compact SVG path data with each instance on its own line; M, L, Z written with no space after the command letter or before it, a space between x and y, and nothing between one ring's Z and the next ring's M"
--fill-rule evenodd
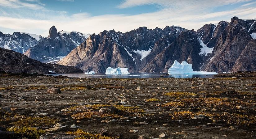
M92 134L89 132L84 132L82 129L77 129L77 131L69 131L66 132L66 134L69 135L75 135L77 138L75 139L117 139L119 137L107 137L107 136L101 136L100 134Z

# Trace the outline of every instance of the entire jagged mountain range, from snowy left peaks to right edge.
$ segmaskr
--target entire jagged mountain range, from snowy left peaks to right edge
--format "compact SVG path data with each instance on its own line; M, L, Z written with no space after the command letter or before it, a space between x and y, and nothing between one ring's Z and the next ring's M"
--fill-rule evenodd
M88 36L57 32L52 26L48 37L0 32L0 47L84 72L105 73L111 66L128 67L130 73L160 73L167 72L175 60L192 64L194 71L254 71L256 21L233 17L231 22L206 24L196 32L179 26L139 27L130 32L105 30Z

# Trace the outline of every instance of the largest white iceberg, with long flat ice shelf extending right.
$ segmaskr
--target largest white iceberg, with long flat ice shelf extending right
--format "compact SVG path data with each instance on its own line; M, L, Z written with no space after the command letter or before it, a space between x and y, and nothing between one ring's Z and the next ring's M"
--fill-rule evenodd
M182 61L180 64L178 61L174 61L173 65L169 68L168 74L217 74L216 72L208 71L193 71L192 64L188 64L186 61Z

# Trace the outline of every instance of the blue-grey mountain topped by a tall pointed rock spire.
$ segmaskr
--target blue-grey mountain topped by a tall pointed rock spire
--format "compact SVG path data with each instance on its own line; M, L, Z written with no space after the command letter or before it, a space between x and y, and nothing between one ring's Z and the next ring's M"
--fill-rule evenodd
M29 48L24 54L38 61L49 62L66 56L83 43L85 39L86 37L80 32L66 33L63 30L57 32L56 27L52 26L49 36L40 39L37 44Z

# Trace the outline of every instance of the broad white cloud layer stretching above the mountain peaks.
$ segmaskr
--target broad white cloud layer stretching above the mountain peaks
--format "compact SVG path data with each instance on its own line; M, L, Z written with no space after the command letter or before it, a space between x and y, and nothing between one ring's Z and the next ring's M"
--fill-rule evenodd
M0 0L1 2L2 0ZM6 1L6 0L5 0ZM14 0L17 1L17 0ZM251 0L127 0L119 5L119 8L131 6L157 4L162 7L160 11L137 15L100 15L92 16L88 13L67 15L66 11L50 11L41 9L39 12L22 11L22 15L31 15L35 18L24 18L23 16L12 17L1 14L0 27L16 31L29 32L47 36L49 28L55 25L58 31L72 30L86 33L100 33L103 30L115 29L115 31L131 31L138 27L146 26L164 28L165 26L178 25L187 29L199 29L206 23L217 23L218 21L230 21L233 16L240 19L256 17L256 8L250 6L236 7L233 10L213 12L214 7L238 2L250 2ZM8 13L5 13L8 14ZM2 16L1 16L2 15ZM10 32L11 33L11 32Z

